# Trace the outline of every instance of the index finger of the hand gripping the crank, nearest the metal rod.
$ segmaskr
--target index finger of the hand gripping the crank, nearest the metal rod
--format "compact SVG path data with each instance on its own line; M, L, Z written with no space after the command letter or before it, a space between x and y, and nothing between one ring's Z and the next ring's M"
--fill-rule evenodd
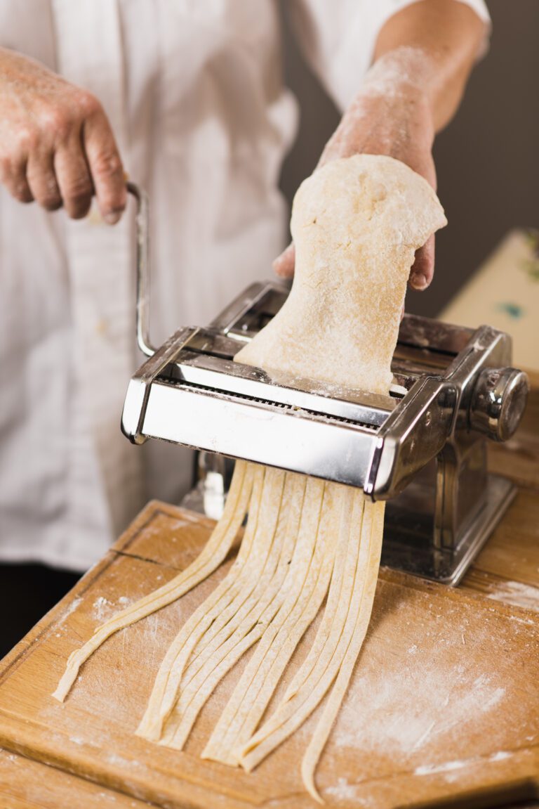
M107 116L99 106L87 117L82 131L99 210L105 222L113 225L127 202L124 167Z

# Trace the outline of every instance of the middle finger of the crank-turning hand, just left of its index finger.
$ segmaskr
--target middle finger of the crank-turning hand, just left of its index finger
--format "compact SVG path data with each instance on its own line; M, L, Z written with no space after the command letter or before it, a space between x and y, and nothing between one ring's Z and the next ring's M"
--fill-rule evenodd
M72 219L86 216L90 210L94 186L78 133L74 133L58 147L54 155L54 169L68 216Z

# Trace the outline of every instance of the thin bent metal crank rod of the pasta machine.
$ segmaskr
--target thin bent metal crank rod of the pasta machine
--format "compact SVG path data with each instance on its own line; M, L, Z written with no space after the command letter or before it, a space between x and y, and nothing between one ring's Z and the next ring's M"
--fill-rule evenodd
M138 185L128 183L127 189L137 203L137 343L141 352L151 357L155 348L149 340L149 202Z

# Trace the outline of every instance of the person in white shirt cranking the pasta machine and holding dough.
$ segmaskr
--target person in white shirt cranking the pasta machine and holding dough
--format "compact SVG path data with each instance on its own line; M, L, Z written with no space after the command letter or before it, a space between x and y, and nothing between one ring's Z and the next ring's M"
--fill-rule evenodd
M287 7L343 111L321 162L387 154L435 184L435 133L486 46L483 0ZM149 497L178 502L191 484L187 451L120 434L141 359L126 176L151 201L159 344L267 277L297 110L273 0L2 0L0 32L0 591L12 599L28 587L18 565L86 570ZM411 286L433 266L429 243ZM275 268L293 273L293 247Z

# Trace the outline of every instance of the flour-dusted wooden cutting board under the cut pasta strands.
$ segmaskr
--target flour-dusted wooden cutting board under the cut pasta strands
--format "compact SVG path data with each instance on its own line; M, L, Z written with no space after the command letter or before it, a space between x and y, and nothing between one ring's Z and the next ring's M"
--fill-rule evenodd
M527 507L537 524L537 498ZM34 771L41 767L54 778L72 773L64 777L70 779L65 794L82 783L86 791L99 790L94 795L101 794L105 806L109 795L126 807L140 801L167 809L317 806L299 773L317 714L254 773L198 757L240 667L208 701L185 752L133 735L167 646L226 565L179 603L109 639L82 668L64 705L50 696L69 653L105 618L188 565L212 527L200 515L150 503L5 659L0 745L32 759ZM389 809L432 806L453 796L455 805L472 807L498 805L503 795L539 794L538 624L533 612L381 570L367 641L318 768L326 803ZM21 761L0 757L0 783L6 768L15 772ZM90 797L82 803L86 798L76 795L72 805L94 806ZM0 803L2 809L30 805L15 798Z

